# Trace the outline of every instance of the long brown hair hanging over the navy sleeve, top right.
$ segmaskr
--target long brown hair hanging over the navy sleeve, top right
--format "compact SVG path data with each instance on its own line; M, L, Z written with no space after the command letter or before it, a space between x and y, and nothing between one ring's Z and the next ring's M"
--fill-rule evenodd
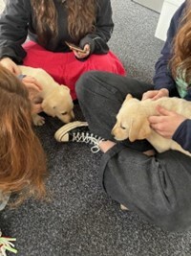
M180 28L174 38L173 55L170 59L173 78L191 83L191 1L186 3L184 15L180 20ZM183 77L182 77L183 75Z

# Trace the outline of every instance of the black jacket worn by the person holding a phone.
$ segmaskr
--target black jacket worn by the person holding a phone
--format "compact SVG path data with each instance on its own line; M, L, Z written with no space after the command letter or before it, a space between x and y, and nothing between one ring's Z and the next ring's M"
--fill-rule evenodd
M54 0L58 12L58 35L53 37L44 47L53 52L69 52L65 41L74 42L67 30L67 10L60 0ZM96 32L81 38L79 46L91 45L91 54L105 54L109 51L107 41L113 32L112 8L110 0L97 0ZM16 63L22 63L26 51L22 44L27 36L38 42L35 33L30 0L7 1L4 12L0 16L0 58L10 57Z

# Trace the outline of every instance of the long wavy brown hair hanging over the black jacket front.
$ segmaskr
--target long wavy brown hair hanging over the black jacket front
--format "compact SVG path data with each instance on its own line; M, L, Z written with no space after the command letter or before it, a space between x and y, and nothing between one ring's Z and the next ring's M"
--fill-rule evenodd
M41 43L46 43L58 33L57 12L53 0L31 0L31 2L36 17L38 39ZM95 30L96 0L66 0L65 2L68 10L68 32L74 41L78 42L82 36Z

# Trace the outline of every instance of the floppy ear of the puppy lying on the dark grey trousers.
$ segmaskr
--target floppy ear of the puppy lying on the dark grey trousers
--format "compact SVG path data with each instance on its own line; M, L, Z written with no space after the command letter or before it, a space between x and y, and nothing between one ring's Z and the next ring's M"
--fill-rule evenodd
M151 128L147 118L133 119L131 121L129 129L129 140L131 142L146 139L150 133Z

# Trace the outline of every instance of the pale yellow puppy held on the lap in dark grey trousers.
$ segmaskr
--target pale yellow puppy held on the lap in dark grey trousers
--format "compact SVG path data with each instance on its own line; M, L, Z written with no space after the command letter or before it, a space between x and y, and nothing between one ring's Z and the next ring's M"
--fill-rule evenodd
M156 110L157 105L191 118L191 103L183 99L163 97L157 101L150 99L139 101L128 94L118 111L117 123L112 129L112 134L117 140L129 138L131 142L147 139L159 152L175 150L191 156L191 153L184 151L177 142L161 137L150 128L148 117L159 114Z

